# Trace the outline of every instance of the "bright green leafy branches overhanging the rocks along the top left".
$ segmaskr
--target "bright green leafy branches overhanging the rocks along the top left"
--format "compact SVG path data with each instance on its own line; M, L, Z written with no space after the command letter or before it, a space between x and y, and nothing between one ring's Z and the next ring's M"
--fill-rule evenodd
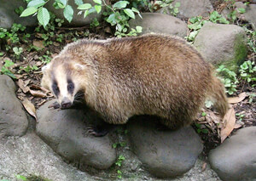
M76 0L75 3L78 5L79 14L84 14L84 18L86 18L89 14L97 13L99 14L102 11L102 7L106 7L106 11L103 12L105 16L107 16L104 20L106 20L109 24L115 26L116 31L119 31L116 35L118 37L123 36L134 36L137 33L141 32L140 29L132 29L131 32L128 32L129 24L128 20L135 19L135 13L140 15L140 12L137 8L128 7L130 2L128 1L118 1L113 3L113 5L107 4L104 0L93 0L95 5L90 3L83 3L83 0ZM20 17L26 17L32 14L37 14L38 22L40 25L44 26L44 29L47 30L47 26L50 21L50 13L47 8L44 8L45 3L48 1L44 0L32 0L27 4L26 9L20 14ZM73 20L73 8L68 5L67 0L55 0L53 3L55 8L63 9L63 14L65 19L68 22ZM61 25L61 21L58 20L58 25ZM98 21L94 20L92 25L98 25Z

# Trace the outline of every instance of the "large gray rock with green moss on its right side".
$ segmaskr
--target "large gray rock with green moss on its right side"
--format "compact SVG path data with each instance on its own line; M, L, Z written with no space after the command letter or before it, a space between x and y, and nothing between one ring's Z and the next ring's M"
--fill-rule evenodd
M237 25L206 23L195 37L195 48L213 65L236 71L247 57L246 32Z

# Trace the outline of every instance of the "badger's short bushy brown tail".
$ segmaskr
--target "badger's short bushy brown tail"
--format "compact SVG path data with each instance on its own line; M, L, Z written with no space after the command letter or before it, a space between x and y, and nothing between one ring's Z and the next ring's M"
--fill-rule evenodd
M229 109L229 104L225 94L224 84L216 76L212 75L212 82L207 97L212 100L214 108L223 118Z

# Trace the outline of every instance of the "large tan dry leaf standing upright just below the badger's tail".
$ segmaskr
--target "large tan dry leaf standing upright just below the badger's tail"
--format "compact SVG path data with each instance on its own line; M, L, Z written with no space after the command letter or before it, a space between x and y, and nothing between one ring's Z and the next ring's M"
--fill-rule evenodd
M224 116L224 128L220 131L221 143L230 135L236 125L236 115L233 107Z

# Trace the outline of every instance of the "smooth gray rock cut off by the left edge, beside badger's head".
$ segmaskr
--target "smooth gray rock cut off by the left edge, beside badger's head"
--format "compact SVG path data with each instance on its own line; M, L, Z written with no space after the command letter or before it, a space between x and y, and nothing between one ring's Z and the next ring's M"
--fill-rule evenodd
M28 120L15 95L15 83L9 76L0 76L0 137L22 136Z

